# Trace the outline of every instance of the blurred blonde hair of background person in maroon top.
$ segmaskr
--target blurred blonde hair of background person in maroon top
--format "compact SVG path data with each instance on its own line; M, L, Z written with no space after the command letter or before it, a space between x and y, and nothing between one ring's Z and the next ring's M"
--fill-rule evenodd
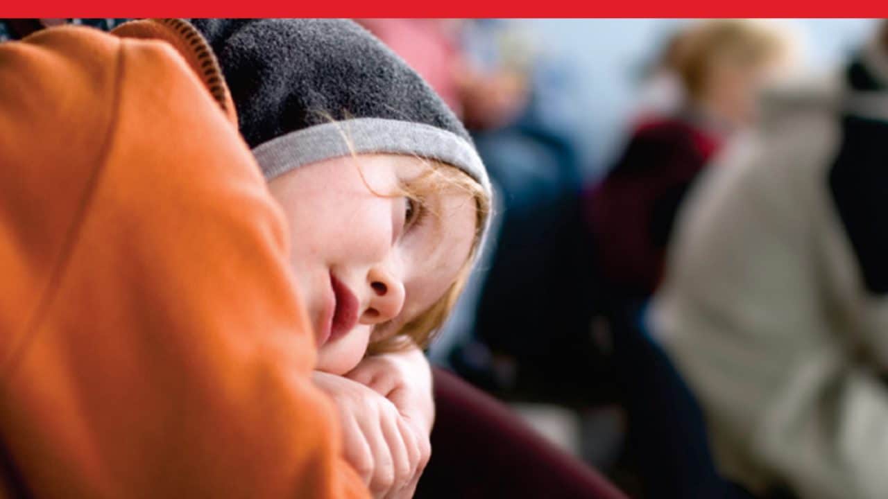
M676 68L688 95L700 98L713 67L721 62L755 67L788 60L793 36L765 20L704 20L681 36Z

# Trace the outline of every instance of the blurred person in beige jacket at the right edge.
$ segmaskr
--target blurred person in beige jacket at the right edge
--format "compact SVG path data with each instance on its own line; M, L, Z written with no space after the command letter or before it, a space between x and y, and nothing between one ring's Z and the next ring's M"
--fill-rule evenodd
M769 92L678 220L649 324L718 469L759 495L888 494L888 23Z

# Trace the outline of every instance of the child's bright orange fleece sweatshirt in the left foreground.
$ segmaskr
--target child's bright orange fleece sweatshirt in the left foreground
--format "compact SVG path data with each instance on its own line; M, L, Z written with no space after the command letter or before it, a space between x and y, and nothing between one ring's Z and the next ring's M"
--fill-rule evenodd
M0 497L367 496L190 28L0 45Z

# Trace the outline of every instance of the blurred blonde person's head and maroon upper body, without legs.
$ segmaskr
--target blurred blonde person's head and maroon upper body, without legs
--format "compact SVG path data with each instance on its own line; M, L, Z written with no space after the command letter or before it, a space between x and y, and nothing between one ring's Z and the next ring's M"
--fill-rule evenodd
M725 139L755 119L758 91L787 66L791 48L783 31L755 20L702 21L673 44L663 66L678 74L684 102L644 115L587 196L600 272L617 303L654 292L685 194Z

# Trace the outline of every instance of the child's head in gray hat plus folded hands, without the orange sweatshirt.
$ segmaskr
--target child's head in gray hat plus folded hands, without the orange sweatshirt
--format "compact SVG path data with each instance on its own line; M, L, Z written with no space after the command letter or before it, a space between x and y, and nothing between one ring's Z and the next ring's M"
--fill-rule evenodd
M480 245L490 199L480 158L428 85L351 21L195 25L289 221L315 380L337 401L345 455L371 492L412 495L432 424L418 347ZM368 350L385 355L361 360Z

